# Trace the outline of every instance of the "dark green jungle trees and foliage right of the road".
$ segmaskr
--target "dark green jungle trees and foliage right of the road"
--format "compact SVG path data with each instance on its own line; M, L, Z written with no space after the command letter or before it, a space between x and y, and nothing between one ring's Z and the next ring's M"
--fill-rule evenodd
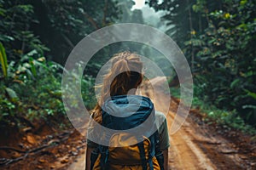
M256 2L148 0L190 63L195 96L256 126Z

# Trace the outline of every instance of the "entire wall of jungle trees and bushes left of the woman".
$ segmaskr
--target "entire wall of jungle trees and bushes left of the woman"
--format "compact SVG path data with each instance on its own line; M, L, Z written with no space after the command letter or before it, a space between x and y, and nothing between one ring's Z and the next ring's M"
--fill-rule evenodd
M77 42L118 16L117 3L108 0L0 0L0 128L67 120L62 65ZM93 81L82 81L89 108Z

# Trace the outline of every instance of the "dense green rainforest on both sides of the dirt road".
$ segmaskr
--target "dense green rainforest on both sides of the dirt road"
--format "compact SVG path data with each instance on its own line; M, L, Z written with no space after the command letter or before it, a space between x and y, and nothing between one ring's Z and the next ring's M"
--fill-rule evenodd
M116 23L160 28L177 42L194 78L193 107L207 119L255 134L256 2L254 0L148 0L159 14L147 18L131 10L131 0L0 0L0 129L35 127L35 122L70 126L61 100L61 73L68 54L91 32ZM129 49L147 55L143 45ZM90 60L83 77L85 105L94 107L97 71L116 51L117 43ZM149 54L148 54L149 55ZM160 63L160 59L151 59ZM172 71L172 68L165 67ZM168 75L178 96L175 74ZM175 86L175 87L174 87Z

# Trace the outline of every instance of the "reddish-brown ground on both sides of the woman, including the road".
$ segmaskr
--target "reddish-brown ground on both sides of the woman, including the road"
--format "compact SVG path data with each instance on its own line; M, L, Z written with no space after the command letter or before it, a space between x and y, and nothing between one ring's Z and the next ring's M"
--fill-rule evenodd
M166 106L168 96L161 89L163 77L143 84L142 94L154 101L157 111ZM156 87L156 88L155 88ZM180 100L172 98L166 114L168 126L172 125ZM227 130L214 123L203 121L204 114L191 110L186 122L170 135L170 169L255 169L256 142L235 130ZM43 127L41 133L27 131L24 136L10 137L0 145L1 169L84 169L85 139L77 131L56 133ZM54 135L51 135L54 133ZM22 149L20 148L22 144ZM29 152L24 150L30 149ZM7 159L8 158L8 159ZM9 162L9 163L7 163ZM6 165L8 164L8 165Z

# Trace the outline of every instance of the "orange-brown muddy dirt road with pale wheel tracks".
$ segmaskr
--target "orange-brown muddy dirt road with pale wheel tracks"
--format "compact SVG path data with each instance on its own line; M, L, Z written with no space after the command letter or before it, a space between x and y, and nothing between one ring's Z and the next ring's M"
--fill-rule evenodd
M154 100L157 111L166 105L167 96L161 88L162 77L154 78L154 90L150 83L143 85L142 94ZM154 92L155 91L155 92ZM168 126L172 125L177 111L179 100L171 99L170 111L166 114ZM188 116L183 126L170 135L171 147L169 149L169 169L256 169L256 163L252 154L243 153L235 143L224 139L215 130L207 127L206 124L199 125L193 113ZM79 156L69 168L84 169L84 156Z

